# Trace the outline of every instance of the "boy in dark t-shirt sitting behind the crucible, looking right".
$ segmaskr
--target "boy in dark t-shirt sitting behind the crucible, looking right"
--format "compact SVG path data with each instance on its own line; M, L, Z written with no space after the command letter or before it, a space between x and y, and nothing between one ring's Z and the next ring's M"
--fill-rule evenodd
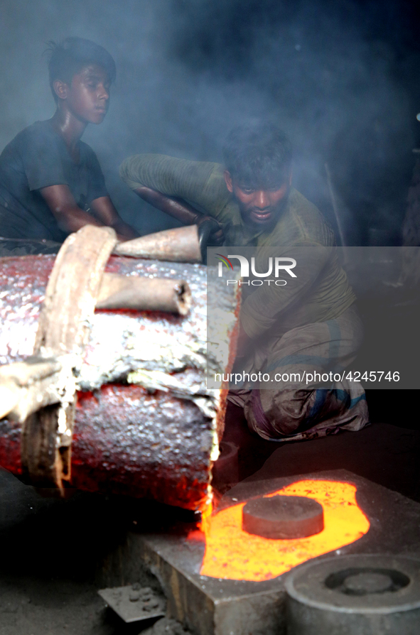
M87 124L101 124L116 69L90 40L50 43L51 119L21 131L0 156L0 237L63 242L85 224L107 225L119 240L139 234L112 204L95 152L80 141Z

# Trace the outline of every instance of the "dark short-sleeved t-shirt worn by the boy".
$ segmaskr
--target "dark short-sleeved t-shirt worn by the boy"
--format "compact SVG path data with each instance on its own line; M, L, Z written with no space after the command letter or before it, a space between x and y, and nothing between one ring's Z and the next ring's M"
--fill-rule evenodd
M95 152L79 141L75 163L64 139L50 120L36 121L19 132L0 155L0 236L45 238L63 242L63 232L39 190L68 185L82 210L107 196L104 175Z

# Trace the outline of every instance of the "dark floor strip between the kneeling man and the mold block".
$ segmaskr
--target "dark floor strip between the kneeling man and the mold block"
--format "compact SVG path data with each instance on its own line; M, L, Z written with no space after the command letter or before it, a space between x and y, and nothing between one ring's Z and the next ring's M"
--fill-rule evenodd
M397 391L394 394L397 396ZM387 398L384 392L382 398ZM341 468L420 501L420 431L414 425L412 429L402 427L401 418L397 422L399 425L372 423L357 433L342 432L311 441L274 443L250 435L242 410L232 406L224 438L239 446L240 480Z

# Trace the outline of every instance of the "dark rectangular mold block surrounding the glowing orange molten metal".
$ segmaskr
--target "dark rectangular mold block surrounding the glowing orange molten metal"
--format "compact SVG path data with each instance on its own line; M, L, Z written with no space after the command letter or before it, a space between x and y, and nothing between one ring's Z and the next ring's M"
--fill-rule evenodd
M306 478L355 484L357 502L370 520L368 533L341 548L339 553L332 552L333 559L352 553L400 555L403 549L405 555L420 558L420 504L347 470L244 481L222 497L219 508L269 494ZM148 568L161 583L168 600L169 617L177 619L195 635L286 635L284 582L289 573L263 582L202 576L204 550L203 534L191 533L189 525L184 526L183 531L178 528L177 532L129 533L125 545L114 553L112 560L116 576L126 577L130 572L133 575L134 563ZM322 562L331 558L332 553L311 562Z

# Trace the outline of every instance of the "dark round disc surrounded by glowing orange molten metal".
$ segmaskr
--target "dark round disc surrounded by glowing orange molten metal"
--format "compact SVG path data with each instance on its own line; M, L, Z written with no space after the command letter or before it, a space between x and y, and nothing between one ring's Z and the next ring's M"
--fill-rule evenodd
M263 538L306 538L323 528L322 505L306 496L259 496L242 510L242 529Z

